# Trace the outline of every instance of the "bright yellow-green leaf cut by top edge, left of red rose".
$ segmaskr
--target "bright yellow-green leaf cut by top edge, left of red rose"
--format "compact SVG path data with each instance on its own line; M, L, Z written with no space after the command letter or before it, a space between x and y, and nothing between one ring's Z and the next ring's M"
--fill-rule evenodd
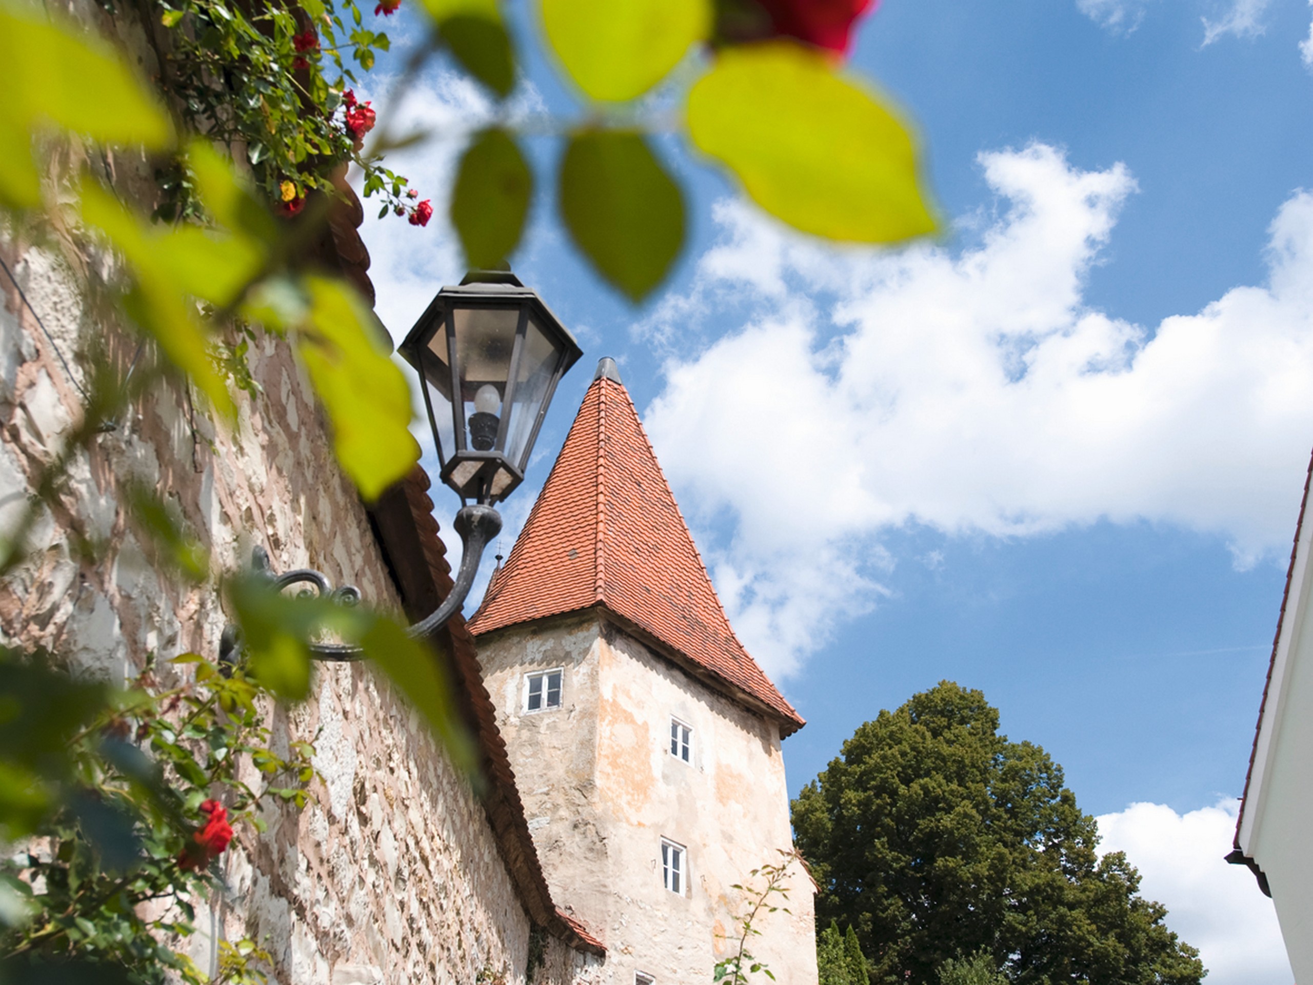
M566 72L595 100L647 92L710 33L708 0L542 0L542 26Z

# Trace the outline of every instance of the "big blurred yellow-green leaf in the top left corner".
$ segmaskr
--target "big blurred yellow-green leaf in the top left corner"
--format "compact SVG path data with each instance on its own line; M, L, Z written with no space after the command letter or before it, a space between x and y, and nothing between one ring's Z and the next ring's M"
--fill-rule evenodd
M137 74L98 38L71 24L51 24L0 7L0 202L39 201L30 134L54 125L105 143L167 147L173 127ZM88 84L95 80L93 84ZM12 160L12 159L18 160Z

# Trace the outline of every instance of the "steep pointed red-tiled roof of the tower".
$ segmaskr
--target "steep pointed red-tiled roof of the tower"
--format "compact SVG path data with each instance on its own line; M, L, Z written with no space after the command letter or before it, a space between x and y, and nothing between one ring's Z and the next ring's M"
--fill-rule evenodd
M479 636L597 605L695 674L777 716L781 734L802 728L734 636L609 359L599 362L538 502L469 628Z

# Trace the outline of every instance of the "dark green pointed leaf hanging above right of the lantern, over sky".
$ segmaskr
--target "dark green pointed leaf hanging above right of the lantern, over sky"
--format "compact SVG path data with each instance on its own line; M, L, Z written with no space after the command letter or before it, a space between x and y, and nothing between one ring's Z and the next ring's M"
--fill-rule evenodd
M558 205L575 244L633 301L670 271L684 243L684 198L646 141L582 130L561 163Z

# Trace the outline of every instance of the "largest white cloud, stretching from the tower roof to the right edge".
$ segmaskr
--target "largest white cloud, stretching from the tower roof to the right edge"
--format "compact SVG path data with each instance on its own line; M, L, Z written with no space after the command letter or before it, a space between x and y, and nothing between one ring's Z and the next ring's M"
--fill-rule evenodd
M878 598L880 536L903 524L1148 519L1217 533L1238 563L1289 544L1313 441L1313 196L1274 221L1267 285L1150 331L1083 299L1127 168L1043 144L979 160L1004 208L969 217L960 250L826 248L721 205L693 288L639 327L668 353L649 432L693 517L731 517L702 541L768 672ZM699 352L713 313L730 330Z

